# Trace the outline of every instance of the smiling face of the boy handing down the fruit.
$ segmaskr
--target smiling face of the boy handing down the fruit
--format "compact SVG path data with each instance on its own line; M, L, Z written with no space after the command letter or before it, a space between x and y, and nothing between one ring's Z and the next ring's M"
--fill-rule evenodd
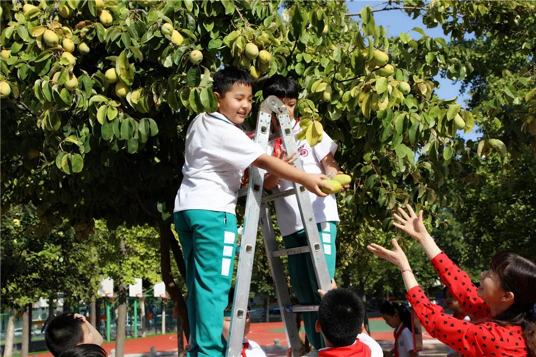
M251 111L253 93L250 86L234 83L233 87L221 96L214 93L218 99L218 112L225 115L234 124L242 124Z

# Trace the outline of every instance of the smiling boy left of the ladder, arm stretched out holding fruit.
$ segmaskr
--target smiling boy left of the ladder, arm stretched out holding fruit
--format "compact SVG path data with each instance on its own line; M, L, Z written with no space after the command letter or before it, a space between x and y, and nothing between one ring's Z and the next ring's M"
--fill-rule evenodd
M233 275L235 206L242 173L249 165L276 172L319 196L324 174L309 174L264 150L237 126L251 111L253 82L227 67L214 75L218 111L192 120L186 134L183 179L174 208L175 230L186 263L189 357L225 355L221 335Z

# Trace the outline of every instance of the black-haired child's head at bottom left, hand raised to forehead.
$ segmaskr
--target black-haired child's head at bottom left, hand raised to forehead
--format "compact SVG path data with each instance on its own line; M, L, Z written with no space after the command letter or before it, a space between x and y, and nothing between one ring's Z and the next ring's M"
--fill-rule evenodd
M50 320L44 332L44 340L48 350L59 356L76 345L93 343L93 334L84 318L62 314Z

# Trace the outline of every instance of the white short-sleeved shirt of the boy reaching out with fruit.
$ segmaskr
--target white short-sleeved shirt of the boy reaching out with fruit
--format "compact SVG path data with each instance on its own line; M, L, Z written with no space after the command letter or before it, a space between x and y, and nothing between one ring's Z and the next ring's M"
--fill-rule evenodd
M221 113L199 114L186 133L183 178L173 211L234 215L244 170L262 154L260 145Z

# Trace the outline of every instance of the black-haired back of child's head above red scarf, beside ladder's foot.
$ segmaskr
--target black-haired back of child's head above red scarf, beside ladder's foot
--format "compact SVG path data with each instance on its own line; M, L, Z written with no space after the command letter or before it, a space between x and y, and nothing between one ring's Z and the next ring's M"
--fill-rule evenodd
M345 288L328 291L318 307L317 332L333 347L349 346L358 337L365 310L358 294Z

